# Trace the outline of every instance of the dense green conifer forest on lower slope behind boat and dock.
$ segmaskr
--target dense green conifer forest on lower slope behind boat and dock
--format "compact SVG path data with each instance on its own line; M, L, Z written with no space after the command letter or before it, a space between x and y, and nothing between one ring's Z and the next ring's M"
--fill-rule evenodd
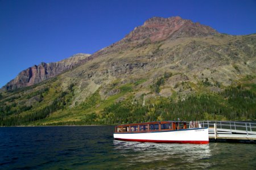
M105 108L103 124L126 124L163 120L255 120L256 95L241 86L218 94L198 94L174 101L160 97L157 104L116 103ZM92 120L96 121L96 119Z

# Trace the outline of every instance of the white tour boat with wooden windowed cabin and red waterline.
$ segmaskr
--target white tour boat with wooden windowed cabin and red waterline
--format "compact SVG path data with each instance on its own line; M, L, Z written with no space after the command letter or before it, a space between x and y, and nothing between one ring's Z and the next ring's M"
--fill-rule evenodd
M155 143L208 144L208 128L198 122L156 121L115 126L114 139Z

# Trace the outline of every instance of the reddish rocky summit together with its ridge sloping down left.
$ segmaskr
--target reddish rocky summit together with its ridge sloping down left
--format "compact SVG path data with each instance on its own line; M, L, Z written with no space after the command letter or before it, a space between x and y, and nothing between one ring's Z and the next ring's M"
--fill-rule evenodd
M149 42L178 39L181 37L212 36L217 33L211 27L200 23L193 23L191 20L180 18L180 16L170 18L153 17L146 20L143 25L135 27L122 40L92 54L92 58L103 54L115 53L129 48L129 46L140 46Z

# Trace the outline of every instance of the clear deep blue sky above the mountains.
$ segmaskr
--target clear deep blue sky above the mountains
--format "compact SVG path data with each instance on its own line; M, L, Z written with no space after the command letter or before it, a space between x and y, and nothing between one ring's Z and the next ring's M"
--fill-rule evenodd
M40 62L92 54L153 16L180 16L221 33L256 33L256 1L0 0L0 87Z

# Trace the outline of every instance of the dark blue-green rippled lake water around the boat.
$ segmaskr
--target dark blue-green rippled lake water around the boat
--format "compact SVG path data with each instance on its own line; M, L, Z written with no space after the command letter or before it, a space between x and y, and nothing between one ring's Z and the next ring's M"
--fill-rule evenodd
M255 169L256 145L114 141L114 126L0 128L0 169Z

